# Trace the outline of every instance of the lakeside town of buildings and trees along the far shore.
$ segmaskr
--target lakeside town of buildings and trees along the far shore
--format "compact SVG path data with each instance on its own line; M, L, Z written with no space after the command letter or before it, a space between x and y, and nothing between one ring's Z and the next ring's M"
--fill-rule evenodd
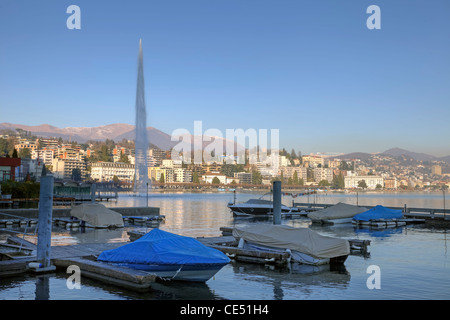
M396 150L399 153L398 150ZM393 152L394 153L394 152ZM436 190L450 187L450 164L417 160L408 154L352 153L340 156L302 155L282 149L278 166L203 161L180 163L171 151L151 146L148 178L153 187L203 185L222 187L270 186L281 180L289 188L362 190ZM39 181L42 166L60 182L107 182L132 187L135 175L134 141L88 141L43 138L17 129L0 132L0 182Z

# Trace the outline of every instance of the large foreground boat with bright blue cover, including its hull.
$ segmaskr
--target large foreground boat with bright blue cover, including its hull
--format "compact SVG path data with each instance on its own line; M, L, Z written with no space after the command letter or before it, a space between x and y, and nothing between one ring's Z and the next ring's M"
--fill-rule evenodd
M153 229L136 241L103 251L98 261L144 270L165 280L206 282L230 259L198 240Z

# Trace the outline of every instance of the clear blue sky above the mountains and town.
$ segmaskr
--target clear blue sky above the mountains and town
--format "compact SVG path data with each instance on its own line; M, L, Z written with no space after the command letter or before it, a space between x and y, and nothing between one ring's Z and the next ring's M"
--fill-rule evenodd
M450 155L449 13L448 0L0 0L0 123L134 125L142 39L147 125L168 134L202 121L279 129L302 154Z

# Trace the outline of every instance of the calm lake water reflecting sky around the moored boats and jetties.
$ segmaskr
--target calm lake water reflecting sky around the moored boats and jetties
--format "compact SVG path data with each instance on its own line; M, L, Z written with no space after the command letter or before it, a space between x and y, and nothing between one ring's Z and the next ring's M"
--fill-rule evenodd
M239 193L237 202L259 197L257 193ZM271 218L234 218L226 207L233 200L231 192L165 193L153 192L149 206L160 207L166 216L159 228L169 232L199 237L220 236L220 227L252 223L273 223ZM283 196L287 205L295 202L443 208L442 193L365 193L317 194L314 198ZM448 200L445 207L449 208ZM117 202L103 202L108 207L146 206L147 197L120 196ZM316 232L345 239L371 241L370 256L350 255L345 270L330 271L329 266L297 266L273 269L267 266L232 262L205 284L159 283L148 293L135 293L82 278L81 289L68 289L69 274L57 272L47 278L25 275L0 279L0 300L300 300L300 299L449 299L450 235L446 230L407 226L381 231L353 226L313 226L307 218L283 218L282 224L310 227ZM54 227L52 245L95 242L127 242L128 230L151 230L145 226L126 225L117 230L87 229L72 231ZM33 241L33 239L30 239ZM369 289L370 266L377 266L380 289ZM369 268L370 269L370 268Z

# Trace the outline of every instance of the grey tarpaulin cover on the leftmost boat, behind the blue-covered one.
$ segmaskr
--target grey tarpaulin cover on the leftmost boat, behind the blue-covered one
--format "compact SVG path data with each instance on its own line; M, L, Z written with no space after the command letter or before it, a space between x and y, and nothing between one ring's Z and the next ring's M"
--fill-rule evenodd
M100 203L83 203L75 205L71 216L86 221L94 228L123 227L122 215L106 208Z

